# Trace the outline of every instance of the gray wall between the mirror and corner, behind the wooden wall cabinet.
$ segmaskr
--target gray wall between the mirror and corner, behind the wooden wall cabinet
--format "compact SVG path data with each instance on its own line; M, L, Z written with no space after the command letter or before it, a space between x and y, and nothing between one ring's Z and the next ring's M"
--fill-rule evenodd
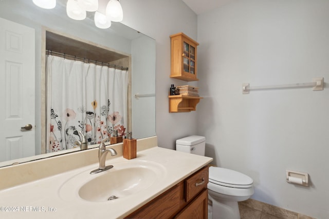
M187 85L170 75L170 35L197 37L197 16L182 1L124 0L122 23L156 39L156 134L160 147L175 149L177 138L196 133L196 112L169 113L171 84ZM193 84L193 83L189 83Z

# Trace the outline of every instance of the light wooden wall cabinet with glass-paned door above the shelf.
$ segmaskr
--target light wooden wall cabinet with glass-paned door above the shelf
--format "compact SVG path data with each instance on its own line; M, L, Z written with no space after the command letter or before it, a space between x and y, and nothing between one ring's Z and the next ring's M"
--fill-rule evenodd
M184 33L176 33L171 38L170 77L191 82L197 79L197 46L192 38Z

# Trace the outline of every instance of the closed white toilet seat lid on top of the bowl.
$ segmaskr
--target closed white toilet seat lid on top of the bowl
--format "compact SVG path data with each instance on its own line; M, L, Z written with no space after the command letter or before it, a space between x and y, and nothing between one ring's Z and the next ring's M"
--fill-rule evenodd
M233 188L250 188L253 180L249 176L234 170L210 167L209 182Z

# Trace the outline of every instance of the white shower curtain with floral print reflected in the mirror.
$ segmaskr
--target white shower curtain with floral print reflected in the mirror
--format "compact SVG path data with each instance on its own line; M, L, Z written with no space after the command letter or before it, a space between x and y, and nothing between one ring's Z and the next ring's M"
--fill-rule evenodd
M88 145L127 127L128 72L48 55L47 148L74 148L85 135Z

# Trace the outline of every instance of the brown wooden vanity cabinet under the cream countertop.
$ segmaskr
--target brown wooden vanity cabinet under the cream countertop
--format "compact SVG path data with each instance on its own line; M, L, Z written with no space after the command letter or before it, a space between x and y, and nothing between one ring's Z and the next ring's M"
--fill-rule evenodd
M125 218L208 218L206 166Z

